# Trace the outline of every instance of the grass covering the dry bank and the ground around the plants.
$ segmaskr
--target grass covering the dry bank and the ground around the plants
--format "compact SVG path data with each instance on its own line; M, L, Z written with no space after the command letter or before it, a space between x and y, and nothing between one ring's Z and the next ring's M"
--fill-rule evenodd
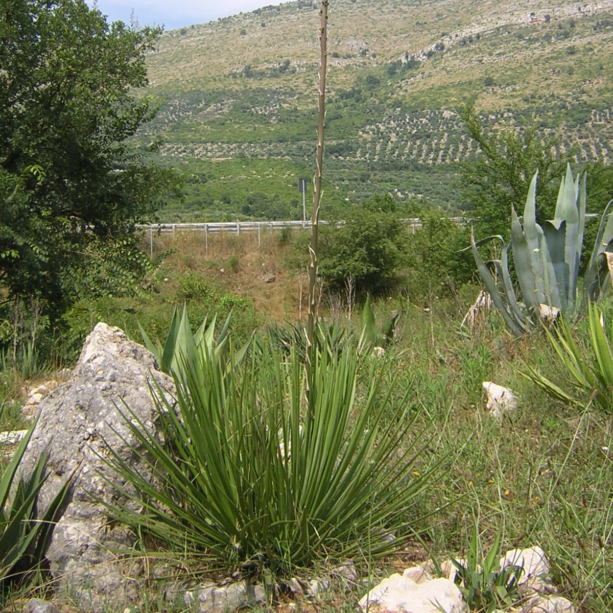
M207 253L199 235L154 237L158 268L150 279L150 292L139 299L82 305L82 333L101 316L126 325L138 338L138 316L149 325L148 333L164 337L177 297L187 299L191 321L197 326L194 313L204 313L207 292L215 295L215 304L224 295L249 298L253 310L249 307L244 312L254 319L242 322L235 311L238 336L242 329L245 333L256 326L261 329L264 322L298 319L299 278L283 265L291 254L291 240L282 240L280 234L261 237L261 245L255 234L209 239ZM258 279L264 270L276 274L273 283ZM376 303L377 321L402 307L400 337L385 356L365 359L357 375L357 397L370 381L370 368L381 376L379 393L389 388L393 402L406 397L405 408L416 422L403 444L413 442L414 432L432 422L436 435L428 457L440 459L444 478L425 490L412 509L422 515L441 509L422 535L427 550L409 540L405 553L376 563L364 551L356 558L360 576L378 581L381 573L413 565L411 556L421 561L432 555L440 562L450 555L463 557L478 514L485 551L503 525L503 551L535 544L543 547L562 594L581 613L605 613L613 607L613 456L606 451L613 449L613 417L589 405L588 394L577 406L550 400L515 370L524 360L558 385L565 383L568 377L546 338L538 333L513 338L496 314L476 329L459 329L464 311L474 300L473 290L464 288L458 300L428 302L430 311L424 310L417 296L409 301L395 295ZM219 320L224 319L220 314ZM586 329L582 326L576 333L585 334ZM75 339L75 346L78 342ZM19 386L11 382L9 373L1 376L9 381L2 388L6 402L18 396ZM517 412L500 421L485 413L483 379L511 387L519 397ZM382 416L383 424L386 419L392 421L392 414ZM412 470L421 474L427 466L426 457L417 457ZM295 571L302 576L319 572L317 567ZM299 607L301 611L349 611L364 592L365 588L345 593L333 587L316 603L303 600ZM159 610L154 590L151 594L143 611ZM279 598L272 608L287 611L291 599Z

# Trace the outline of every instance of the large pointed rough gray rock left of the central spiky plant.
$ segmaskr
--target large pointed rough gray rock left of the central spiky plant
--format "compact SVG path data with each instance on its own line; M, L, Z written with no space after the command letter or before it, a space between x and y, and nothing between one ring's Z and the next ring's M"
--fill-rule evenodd
M40 419L23 470L48 450L49 478L40 490L39 509L47 507L75 471L47 558L58 598L69 595L82 609L117 611L139 596L139 565L116 554L131 546L129 533L110 524L96 498L126 502L118 500L105 481L117 482L118 477L105 464L110 453L104 441L121 459L144 470L139 461L142 449L120 411L129 406L154 428L157 412L149 387L153 378L173 394L172 379L156 370L147 349L129 341L120 329L101 323L85 341L72 377L39 405Z

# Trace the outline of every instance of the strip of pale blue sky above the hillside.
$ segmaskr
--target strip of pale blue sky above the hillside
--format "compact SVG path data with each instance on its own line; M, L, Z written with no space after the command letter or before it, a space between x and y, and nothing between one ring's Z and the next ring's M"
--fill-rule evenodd
M97 0L96 4L104 15L108 15L108 21L130 23L134 9L140 26L164 25L164 29L172 30L270 4L276 6L283 1L287 0ZM88 4L91 6L94 0L88 0Z

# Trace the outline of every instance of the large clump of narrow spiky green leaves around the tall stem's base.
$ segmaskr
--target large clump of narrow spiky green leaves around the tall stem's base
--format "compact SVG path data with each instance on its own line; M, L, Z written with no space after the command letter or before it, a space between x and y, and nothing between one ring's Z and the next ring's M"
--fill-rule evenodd
M232 379L212 352L200 354L176 379L178 413L154 393L161 437L126 408L148 470L109 450L134 487L122 493L140 509L110 514L164 543L166 555L204 558L208 569L255 562L289 573L392 552L435 470L413 471L416 413L380 393L375 370L356 401L355 346L314 356L308 409L302 361L273 347Z

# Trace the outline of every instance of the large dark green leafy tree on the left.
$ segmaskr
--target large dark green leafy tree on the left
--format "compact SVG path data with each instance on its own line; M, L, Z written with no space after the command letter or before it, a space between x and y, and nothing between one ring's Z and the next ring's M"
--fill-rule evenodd
M0 5L0 290L53 310L128 291L147 260L135 223L177 194L137 129L160 29L108 24L83 0ZM7 294L8 292L8 294Z

